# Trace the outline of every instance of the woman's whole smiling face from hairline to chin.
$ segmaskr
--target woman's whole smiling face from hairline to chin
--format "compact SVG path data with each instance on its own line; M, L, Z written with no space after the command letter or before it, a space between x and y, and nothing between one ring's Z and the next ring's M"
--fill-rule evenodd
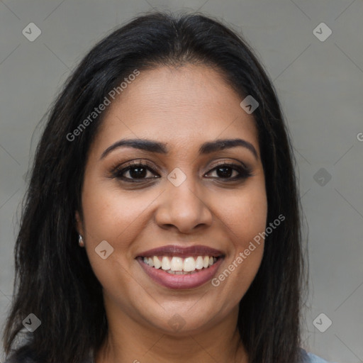
M237 317L267 222L257 129L241 101L216 71L187 65L140 72L108 106L82 222L77 213L108 318L177 333Z

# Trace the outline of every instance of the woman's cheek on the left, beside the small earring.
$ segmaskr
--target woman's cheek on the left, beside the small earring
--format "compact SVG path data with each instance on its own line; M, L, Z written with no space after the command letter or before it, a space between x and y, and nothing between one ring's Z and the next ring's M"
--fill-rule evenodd
M132 243L143 230L143 211L152 198L135 198L132 192L121 194L117 186L96 178L86 180L82 194L86 252L99 281L107 286L112 274L130 269ZM107 242L106 259L97 253L105 250L99 248L102 241Z

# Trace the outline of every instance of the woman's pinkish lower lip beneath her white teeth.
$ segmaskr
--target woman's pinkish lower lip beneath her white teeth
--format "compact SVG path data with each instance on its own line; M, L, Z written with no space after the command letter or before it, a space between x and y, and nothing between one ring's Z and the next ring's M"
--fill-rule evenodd
M154 267L150 267L148 264L145 264L142 259L138 258L138 262L143 267L144 271L158 284L165 286L169 289L194 289L199 287L206 282L210 281L213 276L216 274L216 271L220 264L222 263L223 258L219 257L216 263L212 264L212 266L207 269L196 270L194 274L185 274L185 275L176 275L169 274L162 269L155 269Z

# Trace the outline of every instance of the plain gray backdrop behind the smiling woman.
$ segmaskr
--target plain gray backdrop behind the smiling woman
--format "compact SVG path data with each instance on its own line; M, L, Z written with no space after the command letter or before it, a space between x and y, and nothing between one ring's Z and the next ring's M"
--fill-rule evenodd
M153 7L217 16L257 51L289 123L308 225L303 347L333 362L363 362L362 0L0 1L0 326L37 125L96 40ZM31 22L42 31L33 42L22 34ZM313 33L322 22L333 32L325 41ZM313 325L320 313L333 321L325 333Z

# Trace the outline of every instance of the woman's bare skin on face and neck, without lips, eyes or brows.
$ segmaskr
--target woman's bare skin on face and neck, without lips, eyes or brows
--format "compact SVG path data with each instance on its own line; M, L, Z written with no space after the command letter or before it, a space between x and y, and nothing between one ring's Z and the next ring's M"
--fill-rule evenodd
M265 230L258 134L240 101L216 70L184 65L140 72L108 106L86 161L83 220L76 213L91 267L103 286L109 325L96 363L248 362L237 330L238 303L259 269L263 240L217 287L208 281L194 289L168 289L152 281L135 259L164 245L207 245L225 255L218 277ZM123 138L157 140L169 152L119 147L101 158ZM202 143L228 138L251 143L257 158L245 147L198 155ZM160 178L138 184L112 176L114 167L137 159L155 170L147 171L144 180ZM221 162L245 163L252 176L228 181L216 171ZM186 175L180 186L167 179L176 167ZM230 177L239 174L229 170ZM135 169L123 177L135 178ZM94 251L102 240L113 247L107 259ZM168 323L176 313L184 323L177 331Z

